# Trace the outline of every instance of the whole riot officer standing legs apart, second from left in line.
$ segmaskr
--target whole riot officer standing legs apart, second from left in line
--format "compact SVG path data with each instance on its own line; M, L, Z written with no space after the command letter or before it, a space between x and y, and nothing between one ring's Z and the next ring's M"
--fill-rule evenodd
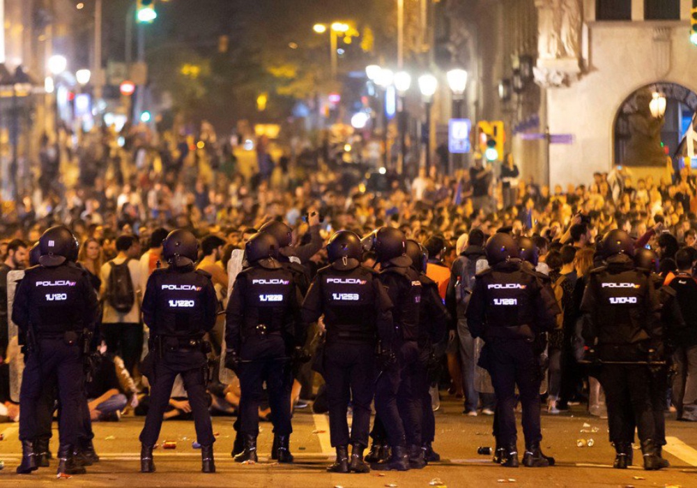
M151 383L151 402L141 441L141 472L153 473L153 446L160 436L174 379L181 374L201 444L201 471L215 473L213 427L208 414L206 376L210 343L204 335L215 325L217 298L210 275L194 270L199 243L184 229L171 231L162 242L169 266L156 269L143 298L143 319L150 328L143 369Z

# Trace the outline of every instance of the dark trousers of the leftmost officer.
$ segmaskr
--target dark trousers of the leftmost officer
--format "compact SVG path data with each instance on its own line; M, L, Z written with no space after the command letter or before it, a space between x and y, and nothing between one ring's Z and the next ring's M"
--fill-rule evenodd
M36 351L26 360L20 390L20 440L31 441L45 436L46 425L50 432L51 422L46 421L46 415L48 412L50 419L52 409L46 405L45 394L49 386L56 383L61 402L61 445L77 444L81 425L80 404L84 401L82 354L77 344L66 344L62 337L38 340Z

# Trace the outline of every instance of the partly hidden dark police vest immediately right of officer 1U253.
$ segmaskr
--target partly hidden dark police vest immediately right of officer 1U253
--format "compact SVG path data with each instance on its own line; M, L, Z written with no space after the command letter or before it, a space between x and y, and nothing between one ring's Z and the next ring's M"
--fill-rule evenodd
M419 273L412 268L392 266L381 274L394 277L399 286L399 302L392 309L397 335L403 340L418 340L422 295Z

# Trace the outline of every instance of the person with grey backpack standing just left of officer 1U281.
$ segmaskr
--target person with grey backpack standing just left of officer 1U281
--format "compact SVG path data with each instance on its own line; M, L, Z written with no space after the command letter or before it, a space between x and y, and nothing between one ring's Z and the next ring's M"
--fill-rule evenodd
M480 395L475 388L475 340L467 325L467 305L475 285L477 270L483 270L487 264L487 254L484 252L484 232L473 229L470 232L469 244L455 259L450 270L450 282L445 292L445 307L452 318L450 333L459 337L459 353L462 367L463 386L465 393L465 415L477 415L480 396L482 413L492 415L496 402L491 393Z

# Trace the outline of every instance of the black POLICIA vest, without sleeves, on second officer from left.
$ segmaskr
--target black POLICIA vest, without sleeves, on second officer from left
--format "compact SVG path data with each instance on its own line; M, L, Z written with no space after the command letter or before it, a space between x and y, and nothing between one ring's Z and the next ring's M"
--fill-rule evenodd
M208 306L204 301L206 293L213 286L209 275L167 268L153 273L151 279L155 280L157 293L153 335L203 335L201 324L206 315L215 314L215 310L204 308Z

